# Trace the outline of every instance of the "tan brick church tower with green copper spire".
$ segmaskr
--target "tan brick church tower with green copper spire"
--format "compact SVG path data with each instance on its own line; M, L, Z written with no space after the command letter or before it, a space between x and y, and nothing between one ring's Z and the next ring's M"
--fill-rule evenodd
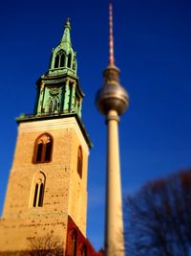
M81 121L84 94L70 31L67 19L49 70L36 82L33 114L16 119L17 142L0 220L0 255L21 255L48 234L59 239L62 255L89 255L87 249L96 255L86 239L92 145Z

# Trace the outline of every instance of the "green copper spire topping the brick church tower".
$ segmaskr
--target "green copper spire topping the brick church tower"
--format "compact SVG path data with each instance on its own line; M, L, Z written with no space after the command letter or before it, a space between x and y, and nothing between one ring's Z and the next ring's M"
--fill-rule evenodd
M72 47L70 32L68 18L61 41L52 51L50 68L36 83L36 116L70 113L81 116L84 94L76 76L76 52Z

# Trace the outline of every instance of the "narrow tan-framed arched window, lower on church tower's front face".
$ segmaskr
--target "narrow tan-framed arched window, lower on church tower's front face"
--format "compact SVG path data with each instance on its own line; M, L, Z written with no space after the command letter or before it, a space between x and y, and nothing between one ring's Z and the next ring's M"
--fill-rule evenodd
M45 175L43 173L38 173L32 183L32 206L42 207L44 190L45 190Z

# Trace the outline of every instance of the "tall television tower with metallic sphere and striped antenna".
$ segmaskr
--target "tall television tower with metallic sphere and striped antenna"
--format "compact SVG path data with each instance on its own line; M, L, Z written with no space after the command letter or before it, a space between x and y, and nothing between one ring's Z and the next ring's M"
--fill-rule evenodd
M119 116L129 105L126 90L119 83L119 69L114 60L113 5L109 4L109 65L103 71L104 82L96 95L96 106L106 116L107 178L105 213L105 255L123 256L123 218L118 149Z

